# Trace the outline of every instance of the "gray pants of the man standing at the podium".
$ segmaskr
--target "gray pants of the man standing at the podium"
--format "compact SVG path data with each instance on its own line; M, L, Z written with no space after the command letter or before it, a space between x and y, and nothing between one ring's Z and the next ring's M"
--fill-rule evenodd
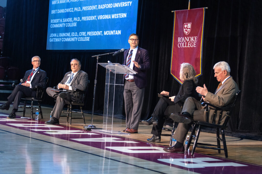
M127 128L138 129L143 102L145 88L138 88L135 82L125 81L124 101L125 101L125 123Z

